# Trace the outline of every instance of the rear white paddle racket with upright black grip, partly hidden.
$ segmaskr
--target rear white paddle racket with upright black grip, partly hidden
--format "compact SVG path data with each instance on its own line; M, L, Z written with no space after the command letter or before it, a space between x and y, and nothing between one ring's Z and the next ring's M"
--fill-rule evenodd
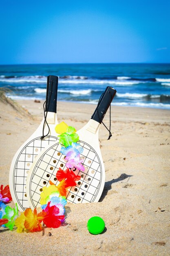
M47 77L46 102L44 118L37 130L25 141L13 157L9 172L9 188L14 203L24 211L29 208L26 196L26 178L34 159L49 144L58 141L55 126L57 122L57 87L58 77Z

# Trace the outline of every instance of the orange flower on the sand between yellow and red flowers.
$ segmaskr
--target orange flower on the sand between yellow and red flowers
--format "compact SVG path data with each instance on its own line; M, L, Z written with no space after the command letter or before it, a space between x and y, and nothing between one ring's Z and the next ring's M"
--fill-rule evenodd
M42 229L42 225L40 222L44 220L46 213L41 212L37 214L36 208L32 212L32 210L26 209L24 212L26 220L24 222L24 227L28 229L30 232L40 231Z

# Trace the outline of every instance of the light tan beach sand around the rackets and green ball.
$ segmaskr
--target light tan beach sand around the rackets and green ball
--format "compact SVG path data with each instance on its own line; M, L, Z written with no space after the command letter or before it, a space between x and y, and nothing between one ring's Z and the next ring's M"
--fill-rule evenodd
M12 158L35 131L42 103L20 101L27 112L0 103L0 184L9 184ZM59 102L59 121L81 128L95 105ZM112 107L113 136L101 126L99 139L106 183L97 203L66 205L66 222L58 229L21 233L0 228L1 255L169 255L170 254L170 110ZM104 123L109 125L109 115ZM10 204L13 206L13 202ZM104 219L103 234L86 224Z

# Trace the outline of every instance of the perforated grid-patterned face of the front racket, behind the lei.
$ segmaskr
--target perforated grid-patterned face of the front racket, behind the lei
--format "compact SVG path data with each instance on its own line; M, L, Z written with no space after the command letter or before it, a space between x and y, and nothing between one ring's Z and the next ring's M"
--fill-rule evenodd
M80 146L83 147L83 152L80 157L83 159L84 171L79 171L73 168L75 175L80 175L81 179L76 181L77 185L69 187L66 194L68 202L94 202L97 192L99 191L102 180L102 167L97 156L97 153L90 145L85 142L79 141ZM31 174L31 182L29 185L29 196L33 207L40 206L40 189L44 186L44 179L47 180L45 186L49 186L49 180L54 180L54 184L58 185L59 182L56 179L56 173L61 168L66 170L65 156L60 153L61 145L56 143L51 146L45 153L38 159L36 165ZM54 166L55 159L55 166ZM51 169L53 167L53 169ZM49 173L50 177L46 175ZM44 177L44 178L43 178Z

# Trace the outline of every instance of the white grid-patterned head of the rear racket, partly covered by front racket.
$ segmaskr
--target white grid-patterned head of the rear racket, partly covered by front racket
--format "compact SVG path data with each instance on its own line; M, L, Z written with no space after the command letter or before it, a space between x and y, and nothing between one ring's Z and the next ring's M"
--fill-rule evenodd
M19 148L11 163L9 188L14 203L17 202L18 204L19 211L24 211L30 207L26 196L26 178L34 159L41 150L58 141L56 133L54 134L55 136L46 136L41 139L41 127Z

